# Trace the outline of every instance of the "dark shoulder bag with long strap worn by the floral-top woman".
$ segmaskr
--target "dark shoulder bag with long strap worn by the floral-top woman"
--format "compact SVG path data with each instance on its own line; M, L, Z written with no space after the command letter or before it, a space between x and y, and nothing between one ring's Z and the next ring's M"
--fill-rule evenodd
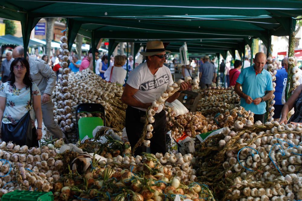
M32 88L31 89L31 98L30 98L30 106L32 105ZM31 110L30 110L31 111ZM33 141L33 129L31 123L31 114L28 111L17 124L3 124L1 127L2 132L2 141L9 142L23 146L27 145L28 147L32 147L34 144Z

